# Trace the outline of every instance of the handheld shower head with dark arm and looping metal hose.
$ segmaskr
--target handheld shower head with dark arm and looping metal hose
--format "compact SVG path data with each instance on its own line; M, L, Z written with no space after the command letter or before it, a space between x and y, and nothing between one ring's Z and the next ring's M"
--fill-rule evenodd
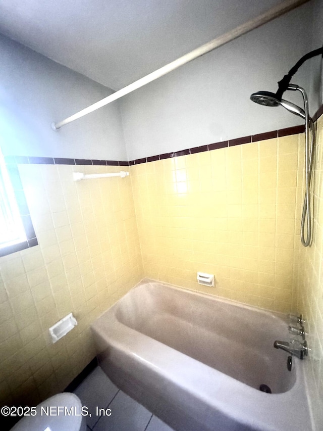
M302 211L300 236L304 247L311 244L312 241L312 218L310 211L310 183L313 168L313 147L314 147L314 123L308 113L308 100L304 88L298 85L291 84L292 76L297 72L298 68L308 59L322 55L323 47L311 51L303 56L284 78L278 82L278 90L276 93L270 91L258 91L251 94L250 99L259 105L264 106L283 106L288 111L302 117L305 120L305 197ZM286 90L300 91L302 93L304 110L292 102L282 99L282 95ZM306 237L305 237L305 220L306 220Z

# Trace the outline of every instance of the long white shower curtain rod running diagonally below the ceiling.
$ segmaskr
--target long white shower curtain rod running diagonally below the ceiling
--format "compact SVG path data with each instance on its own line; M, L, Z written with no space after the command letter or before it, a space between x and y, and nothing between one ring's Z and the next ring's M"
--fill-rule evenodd
M58 123L55 123L55 122L51 123L51 127L53 130L58 130L61 127L65 126L66 124L69 124L72 121L75 121L83 117L84 115L90 114L91 112L96 111L97 109L111 102L114 102L117 99L122 98L124 95L131 93L132 91L148 84L149 82L154 81L155 79L160 78L161 76L164 76L169 72L172 72L178 67L183 66L184 64L198 57L201 57L202 55L209 53L210 51L215 50L216 48L224 45L225 43L228 43L231 40L234 40L237 37L242 36L243 34L246 34L257 27L260 27L262 24L265 24L269 21L272 21L275 18L280 17L281 15L284 15L285 13L297 8L298 6L303 5L304 3L307 3L308 1L309 0L285 0L284 2L271 8L267 12L261 15L258 15L256 18L250 21L247 21L242 25L239 25L233 30L230 30L229 32L224 33L215 39L212 39L211 41L205 43L204 45L199 46L198 48L189 52L188 54L185 54L184 56L178 58L177 60L174 60L171 63L168 63L167 65L155 70L154 72L149 73L143 78L140 78L137 81L133 82L132 84L129 84L126 87L116 91L110 96L107 96L106 98L94 103L93 105L90 105L85 109L82 109L81 111L77 112L74 115L71 115L65 120L59 121Z

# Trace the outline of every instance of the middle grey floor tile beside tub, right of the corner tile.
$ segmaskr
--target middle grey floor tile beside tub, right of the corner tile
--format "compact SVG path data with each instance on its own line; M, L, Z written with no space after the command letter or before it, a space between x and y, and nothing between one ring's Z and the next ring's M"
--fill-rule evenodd
M109 405L111 416L102 416L95 424L93 431L144 431L151 413L119 391Z

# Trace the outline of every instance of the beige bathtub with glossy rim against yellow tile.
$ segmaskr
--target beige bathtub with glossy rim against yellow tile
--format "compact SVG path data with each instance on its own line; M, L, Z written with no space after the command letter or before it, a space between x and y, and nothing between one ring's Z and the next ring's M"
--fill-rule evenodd
M289 371L273 346L290 338L279 315L144 280L92 331L104 372L177 431L314 429L304 361Z

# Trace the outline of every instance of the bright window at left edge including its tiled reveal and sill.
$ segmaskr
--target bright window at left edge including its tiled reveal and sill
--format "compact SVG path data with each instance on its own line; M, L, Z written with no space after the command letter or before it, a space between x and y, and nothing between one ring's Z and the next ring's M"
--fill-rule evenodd
M0 256L37 244L17 164L0 150Z

